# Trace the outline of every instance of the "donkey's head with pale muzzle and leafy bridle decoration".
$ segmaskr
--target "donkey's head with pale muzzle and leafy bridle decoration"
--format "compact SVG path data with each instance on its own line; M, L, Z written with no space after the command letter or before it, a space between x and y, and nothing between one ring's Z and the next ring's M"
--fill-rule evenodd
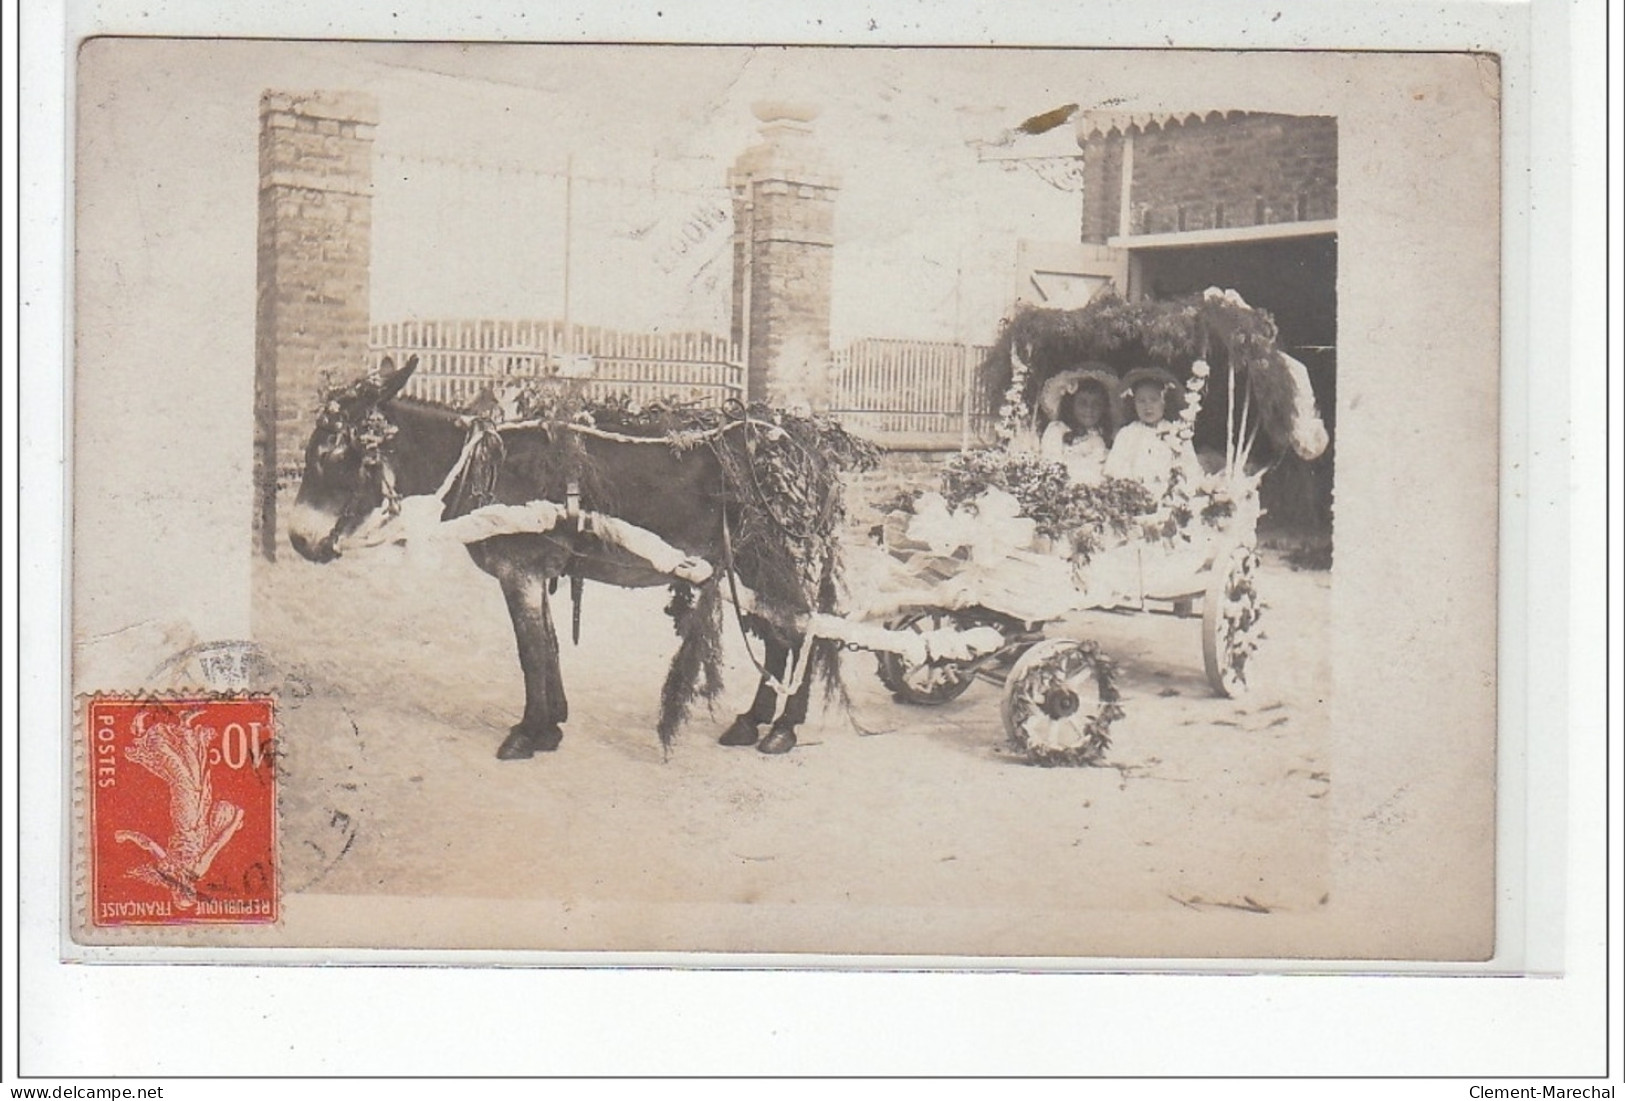
M416 369L416 356L401 369L393 359L385 359L380 377L322 395L315 432L306 445L299 497L288 523L294 550L312 562L336 559L344 536L392 505L395 425L384 416L384 404L400 393Z

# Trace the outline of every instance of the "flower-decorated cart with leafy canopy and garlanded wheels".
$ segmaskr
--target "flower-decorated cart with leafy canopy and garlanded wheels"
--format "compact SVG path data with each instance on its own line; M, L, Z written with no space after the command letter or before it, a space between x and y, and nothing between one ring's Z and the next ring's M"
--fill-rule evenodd
M1081 484L1037 455L1040 393L1086 361L1152 362L1181 378L1178 416L1155 429L1170 455L1164 482ZM1258 484L1284 447L1313 458L1326 445L1306 372L1274 348L1271 318L1217 289L1176 302L1107 297L1017 315L990 362L998 447L959 455L941 492L900 502L878 531L882 554L868 559L868 589L881 594L869 614L921 640L879 654L886 687L941 705L991 680L1029 760L1098 762L1123 715L1115 666L1097 643L1048 632L1071 612L1108 609L1199 617L1209 684L1243 695L1263 640Z

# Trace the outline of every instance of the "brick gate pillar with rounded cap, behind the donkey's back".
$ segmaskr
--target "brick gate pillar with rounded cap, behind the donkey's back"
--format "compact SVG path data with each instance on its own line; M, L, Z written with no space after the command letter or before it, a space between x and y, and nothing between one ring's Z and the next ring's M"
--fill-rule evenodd
M829 409L829 309L840 180L812 140L816 107L757 104L760 141L733 190L733 338L746 398Z

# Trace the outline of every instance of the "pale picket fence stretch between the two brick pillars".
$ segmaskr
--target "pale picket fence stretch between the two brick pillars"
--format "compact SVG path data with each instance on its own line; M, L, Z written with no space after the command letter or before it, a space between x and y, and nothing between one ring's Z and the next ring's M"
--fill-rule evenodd
M722 404L744 396L739 346L710 333L621 333L540 320L390 322L372 326L372 364L418 356L413 398L473 401L500 380L580 378L588 398Z

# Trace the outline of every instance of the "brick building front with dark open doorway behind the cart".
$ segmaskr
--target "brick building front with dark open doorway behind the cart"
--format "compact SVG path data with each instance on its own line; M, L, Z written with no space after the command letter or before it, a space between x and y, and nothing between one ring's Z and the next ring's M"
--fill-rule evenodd
M1237 291L1274 317L1277 346L1308 367L1334 430L1337 120L1082 112L1074 125L1077 278L1129 299ZM1056 266L1053 250L1050 260ZM1328 526L1331 461L1284 464L1269 492L1274 508L1298 525Z

